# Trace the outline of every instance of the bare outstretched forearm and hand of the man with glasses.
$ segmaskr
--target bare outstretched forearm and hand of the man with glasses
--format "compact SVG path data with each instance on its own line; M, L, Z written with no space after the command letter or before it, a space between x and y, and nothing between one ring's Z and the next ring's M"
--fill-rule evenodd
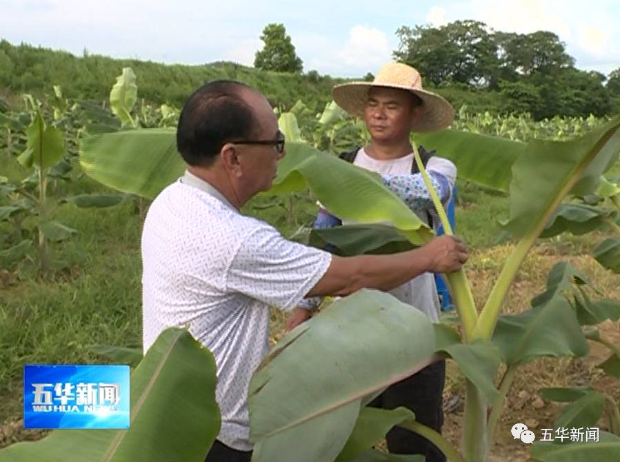
M392 255L332 257L327 272L307 296L345 296L362 288L392 290L424 272L459 270L467 259L466 245L450 236Z

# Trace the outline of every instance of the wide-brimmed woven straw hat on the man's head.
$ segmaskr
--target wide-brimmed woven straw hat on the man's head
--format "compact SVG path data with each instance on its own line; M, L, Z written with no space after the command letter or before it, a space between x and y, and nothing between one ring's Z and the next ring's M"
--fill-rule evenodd
M399 88L416 94L423 102L423 113L412 132L434 132L448 127L454 120L454 108L445 99L422 89L420 73L402 63L388 63L379 70L372 82L343 83L332 88L334 101L349 114L363 117L368 90L371 87Z

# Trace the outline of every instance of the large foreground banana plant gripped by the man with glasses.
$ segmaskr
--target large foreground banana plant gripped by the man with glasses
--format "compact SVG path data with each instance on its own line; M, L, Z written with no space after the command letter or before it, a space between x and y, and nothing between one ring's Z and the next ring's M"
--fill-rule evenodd
M288 122L292 123L291 120ZM432 430L415 423L412 416L402 417L398 423L425 435L452 459L468 462L488 460L503 400L521 365L541 356L583 356L588 351L581 329L583 321L601 322L617 316L618 304L614 301L586 302L584 297L578 299L580 304L570 301L565 295L566 283L552 285L544 297L535 299L533 308L527 312L501 316L501 310L519 266L550 221L554 222L556 230L566 225L566 221L558 218L563 199L568 194L577 197L597 190L601 174L617 160L620 151L619 128L620 117L616 117L581 139L566 142L534 140L527 144L456 130L419 137L418 141L437 148L442 156L453 159L463 176L471 179L479 177L481 182L510 192L507 228L519 239L483 307L474 305L463 272L447 275L450 292L457 301L462 334L439 326L434 332L434 348L431 350L432 354L454 360L466 377L466 415L461 451L452 447L441 435L433 434ZM475 152L467 154L472 146ZM143 159L148 159L148 162ZM498 159L504 159L503 163ZM82 143L80 161L94 179L112 188L145 197L157 195L184 169L174 148L174 130L165 129L90 137ZM281 160L271 192L299 192L306 188L334 214L361 223L358 228L346 230L346 234L352 236L347 239L342 239L344 229L326 230L321 234L323 241L340 245L343 253L355 254L360 249L368 248L376 250L395 241L400 248L403 245L420 245L433 237L432 231L383 186L377 174L341 162L331 154L315 150L308 143L288 143L287 156ZM351 194L342 194L343 190L354 191L354 199L350 199ZM437 210L441 210L440 205L437 205ZM377 242L369 229L386 223L390 227L386 236L389 234L392 240ZM450 229L447 223L444 226L446 230ZM334 238L332 241L331 232L334 235L341 232L341 240ZM394 234L398 239L394 238ZM366 239L374 241L368 244ZM348 248L348 243L357 245L357 250ZM566 281L565 278L560 280ZM554 287L556 290L553 290ZM369 295L366 294L366 297ZM361 305L361 301L356 303L356 308ZM388 301L383 305L388 305ZM387 309L380 310L371 317L384 323L389 318L388 312ZM346 455L335 454L334 448L343 450L347 447L346 434L359 434L362 426L366 428L363 431L368 430L368 415L360 409L370 401L370 396L379 392L381 387L397 381L403 376L401 374L411 374L416 368L432 361L432 354L428 354L426 360L410 356L409 365L391 370L383 361L372 360L372 356L368 356L376 374L354 376L354 382L360 386L353 390L344 385L330 387L330 381L338 384L346 379L345 376L350 373L343 371L349 371L350 365L357 364L359 356L370 354L376 342L357 343L355 350L343 355L338 353L339 348L327 348L317 356L322 361L333 359L338 366L334 369L336 372L323 374L321 364L317 364L311 368L314 378L304 376L307 381L296 388L297 393L268 392L271 386L276 386L276 382L297 376L300 373L299 364L304 364L308 359L308 350L319 348L319 344L325 342L310 342L314 338L311 334L316 333L320 338L319 331L331 329L330 339L333 339L355 331L356 323L346 323L344 318L332 319L329 313L330 310L326 310L316 320L290 332L254 375L250 412L253 416L252 436L260 448L254 460L274 460L269 459L274 448L299 448L300 442L305 441L301 437L305 432L321 434L321 438L326 438L324 441L331 441L329 446L332 448L328 451L326 444L321 444L321 438L314 438L316 444L304 443L304 450L296 452L308 454L308 460L357 460L357 457L361 458L359 460L381 460L372 459L383 456L369 452L368 448L348 459ZM334 316L337 314L343 315L338 311ZM323 320L319 323L321 318ZM412 320L406 323L406 328L414 329L416 323ZM371 330L359 334L362 340L368 332ZM406 348L412 339L410 336L401 343L398 337L392 336L391 330L379 329L379 332L384 332L383 341L393 342L400 348ZM507 372L499 383L494 383L500 362L506 364ZM381 417L378 420L383 422L381 425L384 427L385 419ZM588 448L574 444L559 450L554 446L548 448L546 443L541 442L534 445L532 456L542 462L559 460L558 454L562 454L566 458L563 460L567 461L584 460L584 454L605 454L608 458L604 460L620 456L620 438L605 434L602 439L604 441L591 443Z

